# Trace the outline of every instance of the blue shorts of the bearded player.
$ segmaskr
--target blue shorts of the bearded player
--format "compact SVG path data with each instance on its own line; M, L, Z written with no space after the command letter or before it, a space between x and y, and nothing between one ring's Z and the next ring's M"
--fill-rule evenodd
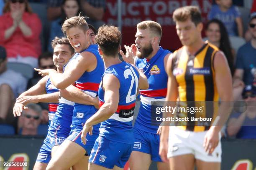
M142 153L148 153L151 155L151 160L155 162L162 162L159 156L159 144L160 136L147 133L143 130L133 128L134 135L134 146L133 151L138 151Z

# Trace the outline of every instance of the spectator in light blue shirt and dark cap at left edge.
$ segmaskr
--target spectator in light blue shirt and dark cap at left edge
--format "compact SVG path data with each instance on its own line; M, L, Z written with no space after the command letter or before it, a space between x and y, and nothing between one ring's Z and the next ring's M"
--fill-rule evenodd
M26 90L26 86L23 75L7 68L6 50L0 46L0 124L13 123L14 99Z

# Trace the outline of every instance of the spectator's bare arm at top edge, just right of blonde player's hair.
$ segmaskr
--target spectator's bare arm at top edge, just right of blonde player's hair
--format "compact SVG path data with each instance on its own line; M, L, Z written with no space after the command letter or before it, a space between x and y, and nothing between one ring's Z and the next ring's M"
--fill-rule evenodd
M81 0L82 9L86 13L86 16L91 18L92 20L102 20L104 15L103 7L94 7L90 5L90 3L85 0Z

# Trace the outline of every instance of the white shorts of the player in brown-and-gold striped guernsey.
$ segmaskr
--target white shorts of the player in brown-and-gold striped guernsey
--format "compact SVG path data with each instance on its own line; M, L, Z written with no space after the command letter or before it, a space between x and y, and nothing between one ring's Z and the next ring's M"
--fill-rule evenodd
M192 132L181 130L175 126L170 126L169 144L167 157L171 158L178 155L193 154L195 159L205 162L221 162L221 143L215 148L212 154L205 152L203 147L204 132ZM219 138L221 135L219 134Z

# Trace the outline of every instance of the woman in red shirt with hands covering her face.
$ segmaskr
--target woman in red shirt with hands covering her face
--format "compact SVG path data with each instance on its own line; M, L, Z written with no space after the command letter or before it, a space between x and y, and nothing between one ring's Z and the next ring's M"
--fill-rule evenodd
M7 0L0 16L0 45L7 50L8 62L38 66L41 54L41 21L27 0Z

